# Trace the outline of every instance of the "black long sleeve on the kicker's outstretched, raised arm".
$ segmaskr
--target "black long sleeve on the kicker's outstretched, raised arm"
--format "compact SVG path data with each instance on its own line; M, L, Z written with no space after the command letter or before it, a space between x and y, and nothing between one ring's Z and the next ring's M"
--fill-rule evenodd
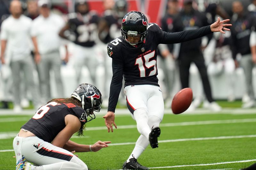
M159 44L175 44L184 41L194 40L212 33L210 26L204 26L194 30L186 30L176 33L167 33L159 30Z

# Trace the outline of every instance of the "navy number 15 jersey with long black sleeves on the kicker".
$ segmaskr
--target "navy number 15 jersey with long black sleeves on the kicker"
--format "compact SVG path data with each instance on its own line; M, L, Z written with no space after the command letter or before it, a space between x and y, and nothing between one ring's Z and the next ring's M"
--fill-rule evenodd
M157 46L189 41L211 33L210 26L178 33L164 32L157 24L149 23L144 42L133 47L122 36L108 44L108 55L112 58L113 77L110 85L108 111L115 111L119 93L127 85L158 85Z

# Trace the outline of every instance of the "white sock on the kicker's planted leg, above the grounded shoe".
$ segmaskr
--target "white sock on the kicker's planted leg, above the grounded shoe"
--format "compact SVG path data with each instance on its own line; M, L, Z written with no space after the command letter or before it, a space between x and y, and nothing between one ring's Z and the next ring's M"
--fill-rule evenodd
M147 148L148 144L149 144L148 138L144 137L143 135L140 135L131 155L126 160L126 163L130 162L129 159L133 158L132 155L134 156L135 159L138 159L141 153Z

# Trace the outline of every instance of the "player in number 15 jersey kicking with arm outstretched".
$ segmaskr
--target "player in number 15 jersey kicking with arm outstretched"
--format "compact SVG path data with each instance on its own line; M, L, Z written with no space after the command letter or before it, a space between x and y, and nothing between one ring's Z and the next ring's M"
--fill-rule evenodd
M124 94L132 118L137 122L141 134L135 147L124 162L123 169L148 169L140 165L137 159L148 144L158 147L159 124L164 116L164 101L158 85L156 56L158 44L173 44L189 41L212 32L225 33L224 24L229 19L220 18L209 26L177 33L164 32L157 24L148 23L146 16L138 11L127 13L122 21L122 36L108 44L108 55L112 58L113 77L110 85L108 113L103 117L108 132L115 123L115 108L122 88L124 76Z

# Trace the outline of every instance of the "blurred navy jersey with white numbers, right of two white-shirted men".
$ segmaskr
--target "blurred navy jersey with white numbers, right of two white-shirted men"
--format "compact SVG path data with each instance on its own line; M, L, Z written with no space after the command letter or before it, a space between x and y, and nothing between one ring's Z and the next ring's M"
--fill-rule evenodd
M73 35L71 41L84 47L92 47L97 36L97 24L99 17L96 13L89 12L86 15L71 13L68 15L68 25Z

